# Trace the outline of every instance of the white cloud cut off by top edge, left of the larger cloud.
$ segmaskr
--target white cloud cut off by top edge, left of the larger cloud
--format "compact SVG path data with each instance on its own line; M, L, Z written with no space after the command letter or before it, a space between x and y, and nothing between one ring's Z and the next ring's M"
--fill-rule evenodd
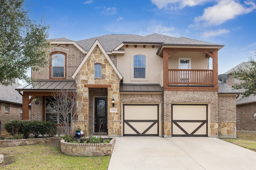
M185 8L186 6L202 5L213 0L151 0L159 9L162 8Z

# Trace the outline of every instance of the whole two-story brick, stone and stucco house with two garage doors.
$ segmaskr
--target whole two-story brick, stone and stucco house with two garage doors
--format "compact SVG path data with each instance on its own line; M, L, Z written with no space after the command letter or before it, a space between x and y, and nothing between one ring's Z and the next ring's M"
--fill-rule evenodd
M66 89L78 95L71 127L85 134L236 137L237 93L218 82L224 45L156 33L49 41L49 66L32 70L36 86L16 89L24 94L23 119L50 120L52 92Z

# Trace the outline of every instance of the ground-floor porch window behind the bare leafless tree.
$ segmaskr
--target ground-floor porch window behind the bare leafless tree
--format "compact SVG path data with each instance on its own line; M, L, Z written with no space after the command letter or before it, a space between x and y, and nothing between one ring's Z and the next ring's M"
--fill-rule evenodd
M54 106L56 100L54 98L45 98L45 121L51 121L52 123L63 123L63 116L58 113L56 105ZM69 116L68 123L71 122L71 116Z

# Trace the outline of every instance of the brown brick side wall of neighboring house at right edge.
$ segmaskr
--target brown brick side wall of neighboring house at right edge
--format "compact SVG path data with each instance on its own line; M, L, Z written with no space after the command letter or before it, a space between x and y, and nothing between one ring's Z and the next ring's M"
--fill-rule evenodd
M243 131L256 131L256 103L236 106L236 128Z

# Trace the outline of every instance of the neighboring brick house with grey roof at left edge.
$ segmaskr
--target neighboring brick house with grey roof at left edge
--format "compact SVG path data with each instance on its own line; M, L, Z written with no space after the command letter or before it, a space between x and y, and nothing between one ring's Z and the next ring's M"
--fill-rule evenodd
M16 81L12 86L0 85L0 122L1 133L6 133L6 121L22 119L22 96L15 90L21 84ZM30 113L30 112L29 112Z

